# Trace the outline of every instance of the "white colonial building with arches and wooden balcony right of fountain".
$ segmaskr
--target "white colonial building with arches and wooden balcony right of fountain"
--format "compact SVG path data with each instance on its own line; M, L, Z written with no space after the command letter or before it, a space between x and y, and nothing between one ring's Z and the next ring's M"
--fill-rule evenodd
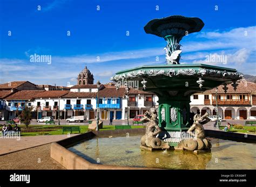
M191 112L194 113L216 115L216 104L222 119L256 119L256 84L241 80L236 90L227 84L226 91L224 85L220 85L191 96Z

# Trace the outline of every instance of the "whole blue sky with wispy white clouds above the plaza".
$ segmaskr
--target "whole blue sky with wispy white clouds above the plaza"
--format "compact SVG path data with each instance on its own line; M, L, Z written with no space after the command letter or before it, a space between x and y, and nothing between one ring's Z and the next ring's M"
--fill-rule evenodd
M181 40L181 63L210 63L256 75L253 0L0 0L0 83L73 85L85 64L95 82L106 83L119 70L165 64L165 40L146 34L143 27L151 19L171 15L199 17L205 23L201 32ZM51 55L51 64L30 62L35 53ZM226 55L227 63L206 62L210 54Z

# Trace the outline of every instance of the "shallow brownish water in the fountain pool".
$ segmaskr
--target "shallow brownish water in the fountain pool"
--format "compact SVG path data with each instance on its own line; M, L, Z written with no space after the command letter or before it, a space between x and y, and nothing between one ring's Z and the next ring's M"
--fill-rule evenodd
M91 163L165 169L256 169L256 144L209 138L211 153L182 150L149 152L140 146L141 134L97 136L68 148Z

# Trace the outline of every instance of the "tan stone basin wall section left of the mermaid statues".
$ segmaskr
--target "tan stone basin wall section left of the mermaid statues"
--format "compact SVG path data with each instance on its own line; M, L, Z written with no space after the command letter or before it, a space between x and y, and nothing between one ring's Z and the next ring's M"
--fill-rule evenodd
M67 149L72 145L77 144L79 141L89 140L96 135L114 135L114 134L126 134L126 133L145 133L145 128L133 128L128 130L110 130L110 131L98 131L87 132L72 136L70 138L60 140L51 143L51 157L56 160L66 169L156 169L156 168L136 168L125 166L110 166L105 164L93 164L77 154Z

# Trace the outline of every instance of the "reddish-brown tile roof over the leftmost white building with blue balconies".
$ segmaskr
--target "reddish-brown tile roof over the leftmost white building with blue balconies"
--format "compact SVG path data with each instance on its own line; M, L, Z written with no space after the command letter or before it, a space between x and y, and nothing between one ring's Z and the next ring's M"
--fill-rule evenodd
M14 94L6 97L6 100L32 100L39 93L44 92L45 90L22 90L17 91Z

